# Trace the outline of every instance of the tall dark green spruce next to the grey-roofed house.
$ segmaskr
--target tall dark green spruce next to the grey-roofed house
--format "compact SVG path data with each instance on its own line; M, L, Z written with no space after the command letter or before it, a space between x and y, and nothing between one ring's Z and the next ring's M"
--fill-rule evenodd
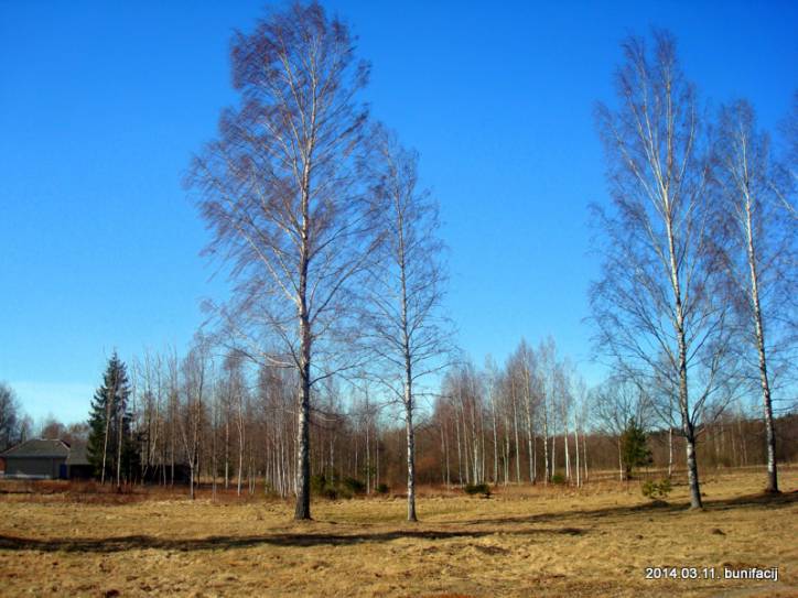
M117 477L121 485L121 472L128 474L130 461L134 460L130 441L131 414L128 412L130 382L125 362L117 352L108 360L103 376L103 385L91 400L91 413L88 426L88 460L94 466L95 476L105 483L106 478Z

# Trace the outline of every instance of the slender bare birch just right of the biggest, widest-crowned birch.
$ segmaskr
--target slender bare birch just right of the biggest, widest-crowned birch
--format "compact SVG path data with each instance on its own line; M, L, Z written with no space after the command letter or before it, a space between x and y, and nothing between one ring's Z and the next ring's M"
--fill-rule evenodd
M446 280L443 244L438 236L438 205L419 187L418 154L381 127L375 129L374 138L382 243L370 269L367 328L384 367L379 379L405 406L408 521L417 521L413 416L420 381L440 371L450 340L441 314Z

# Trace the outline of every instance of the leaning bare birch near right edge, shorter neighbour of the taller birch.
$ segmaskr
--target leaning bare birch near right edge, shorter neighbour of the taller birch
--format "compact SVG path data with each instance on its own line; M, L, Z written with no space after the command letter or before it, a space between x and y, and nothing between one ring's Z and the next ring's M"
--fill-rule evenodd
M762 393L767 446L767 488L778 492L773 420L773 360L790 351L796 327L796 219L785 209L787 185L773 164L769 140L756 130L753 108L737 101L721 111L715 143L719 199L726 206L731 283L729 300L742 315L743 347L751 347ZM774 341L775 340L775 341ZM790 355L790 352L792 355ZM774 355L775 354L775 355ZM747 356L744 356L744 358Z

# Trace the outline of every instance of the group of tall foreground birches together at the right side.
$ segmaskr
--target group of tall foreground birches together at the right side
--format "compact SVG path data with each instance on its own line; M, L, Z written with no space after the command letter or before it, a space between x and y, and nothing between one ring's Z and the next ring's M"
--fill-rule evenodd
M612 203L593 213L591 304L624 392L678 425L701 508L698 436L752 383L778 491L773 393L796 388L795 155L779 163L745 101L709 118L672 36L653 37L650 51L624 43L616 106L596 110Z

